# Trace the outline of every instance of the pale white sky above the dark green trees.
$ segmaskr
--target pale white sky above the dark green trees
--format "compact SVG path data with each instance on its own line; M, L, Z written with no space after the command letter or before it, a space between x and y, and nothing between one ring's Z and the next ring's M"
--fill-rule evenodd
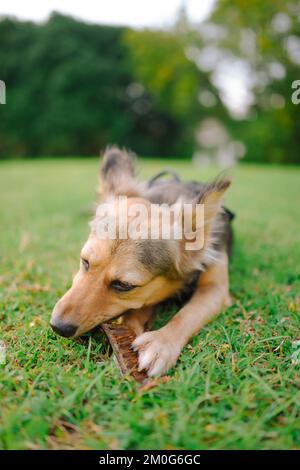
M43 21L59 11L92 23L161 27L172 24L183 3L190 20L198 22L215 0L9 0L1 2L0 15Z

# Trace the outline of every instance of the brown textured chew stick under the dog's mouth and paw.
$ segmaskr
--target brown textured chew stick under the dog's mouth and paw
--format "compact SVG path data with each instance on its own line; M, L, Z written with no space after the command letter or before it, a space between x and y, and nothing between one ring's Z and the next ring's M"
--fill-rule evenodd
M138 370L138 355L131 349L136 338L134 332L128 326L118 323L103 323L101 328L115 353L121 373L130 374L137 382L144 382L148 376L145 371Z

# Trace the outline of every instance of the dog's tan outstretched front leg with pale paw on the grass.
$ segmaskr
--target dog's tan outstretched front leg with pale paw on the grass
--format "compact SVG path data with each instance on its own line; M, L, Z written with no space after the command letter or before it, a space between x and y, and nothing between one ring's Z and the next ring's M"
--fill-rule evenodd
M139 367L149 376L161 375L174 366L190 337L224 306L230 305L228 292L228 258L224 253L218 263L202 273L191 300L157 331L140 335L133 343L139 352Z

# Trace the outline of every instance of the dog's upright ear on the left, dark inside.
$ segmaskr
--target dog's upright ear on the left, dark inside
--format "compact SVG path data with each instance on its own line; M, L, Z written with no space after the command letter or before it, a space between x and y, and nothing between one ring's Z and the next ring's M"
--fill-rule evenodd
M137 186L134 156L118 147L107 148L101 162L98 193L136 196Z

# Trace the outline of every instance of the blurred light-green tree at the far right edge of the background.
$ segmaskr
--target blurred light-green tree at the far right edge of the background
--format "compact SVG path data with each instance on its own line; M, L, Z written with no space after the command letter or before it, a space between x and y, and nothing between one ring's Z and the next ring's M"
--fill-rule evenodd
M249 112L226 121L231 135L245 142L248 160L300 163L300 106L291 100L300 78L299 12L298 0L219 0L204 25L221 33L213 41L217 66L236 58L249 71Z

